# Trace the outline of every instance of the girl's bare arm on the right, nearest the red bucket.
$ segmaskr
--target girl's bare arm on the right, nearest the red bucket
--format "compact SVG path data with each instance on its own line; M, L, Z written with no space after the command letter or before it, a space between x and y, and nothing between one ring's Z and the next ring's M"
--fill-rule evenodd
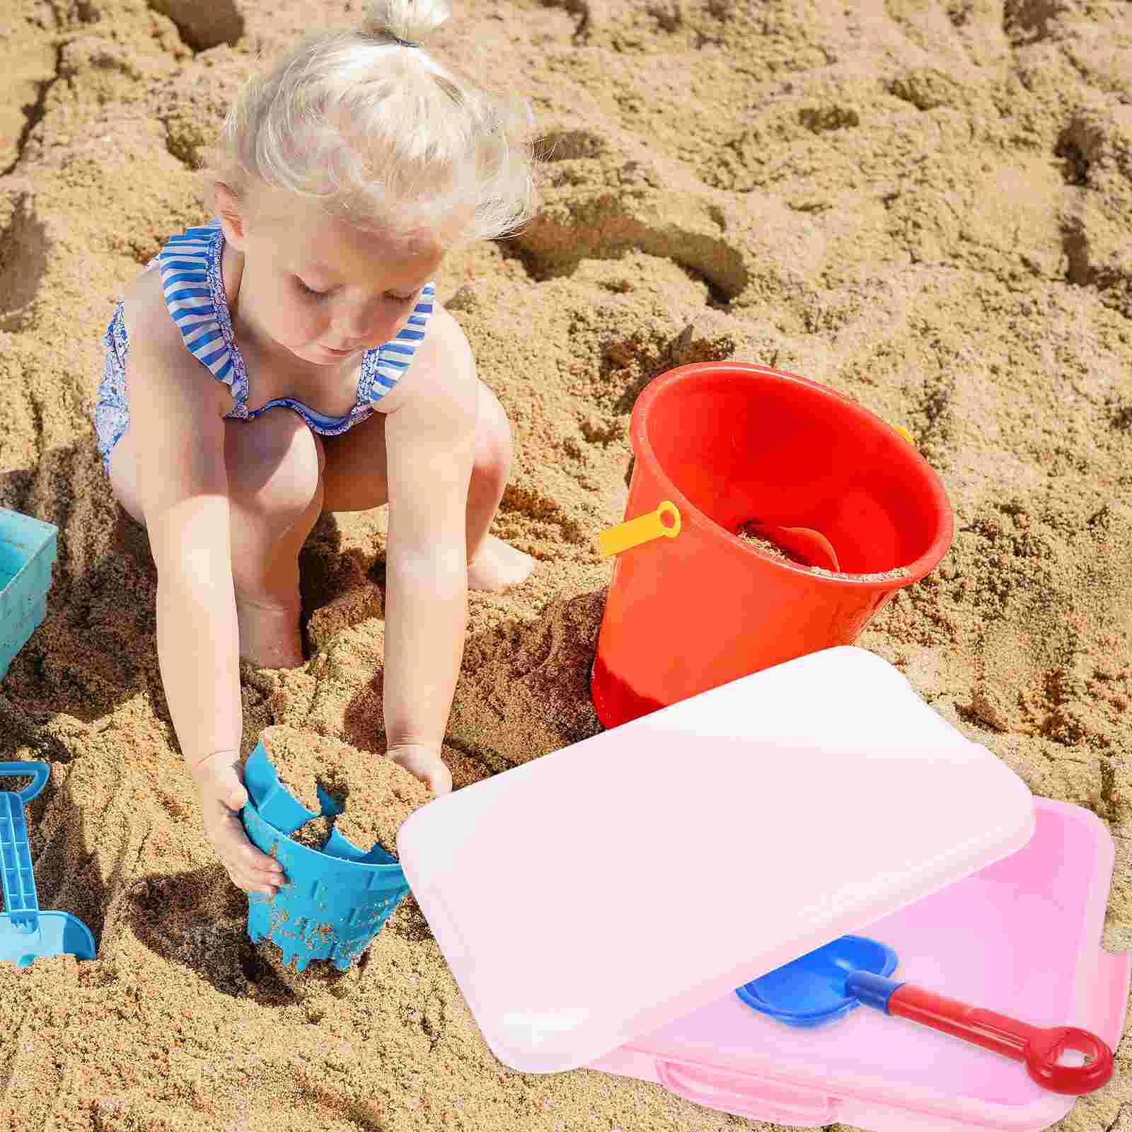
M468 488L475 454L475 363L458 325L434 316L427 365L385 427L389 486L385 726L388 753L452 784L440 761L468 619ZM443 327L443 329L441 329ZM418 363L426 361L419 357Z

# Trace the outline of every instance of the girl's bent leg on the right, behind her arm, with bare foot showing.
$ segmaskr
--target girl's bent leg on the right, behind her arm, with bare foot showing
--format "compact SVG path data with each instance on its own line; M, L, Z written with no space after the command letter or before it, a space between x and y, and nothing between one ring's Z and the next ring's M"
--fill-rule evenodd
M529 555L488 534L509 470L511 424L496 395L480 381L475 463L468 490L468 584L474 590L517 585L534 567ZM388 501L384 413L327 438L324 479L327 511L369 511Z

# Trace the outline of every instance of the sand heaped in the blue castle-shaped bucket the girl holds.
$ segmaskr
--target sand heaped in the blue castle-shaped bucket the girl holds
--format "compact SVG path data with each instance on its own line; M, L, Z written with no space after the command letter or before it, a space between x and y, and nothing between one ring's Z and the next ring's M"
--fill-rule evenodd
M319 784L344 807L334 826L359 849L379 844L395 854L402 823L431 797L428 786L393 760L338 739L285 723L266 728L260 739L280 781L308 809L319 808ZM308 822L300 832L315 825ZM306 835L317 838L320 829ZM312 848L321 849L325 843L324 838Z

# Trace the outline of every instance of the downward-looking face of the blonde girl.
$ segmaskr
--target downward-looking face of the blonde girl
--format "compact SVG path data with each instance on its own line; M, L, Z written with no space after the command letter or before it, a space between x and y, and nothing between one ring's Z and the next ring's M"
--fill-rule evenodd
M439 243L406 247L271 189L237 242L260 329L320 366L395 337L444 257Z

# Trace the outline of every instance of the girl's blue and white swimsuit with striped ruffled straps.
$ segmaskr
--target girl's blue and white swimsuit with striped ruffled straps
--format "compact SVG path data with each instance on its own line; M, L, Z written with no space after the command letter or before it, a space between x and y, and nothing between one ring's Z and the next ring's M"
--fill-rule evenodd
M362 355L358 378L358 398L344 417L324 417L293 397L276 397L259 409L248 408L248 370L235 344L232 318L224 293L221 254L224 233L220 221L204 228L190 228L174 235L152 263L161 271L165 306L177 323L186 350L218 381L223 381L235 402L230 420L255 420L268 409L283 405L293 409L315 432L337 436L374 413L374 402L380 401L404 376L428 326L436 297L429 283L409 316L409 324L391 342L367 350ZM114 309L102 344L105 355L102 380L94 409L94 429L103 464L110 469L110 454L130 422L126 400L126 359L129 340L122 319L122 303Z

